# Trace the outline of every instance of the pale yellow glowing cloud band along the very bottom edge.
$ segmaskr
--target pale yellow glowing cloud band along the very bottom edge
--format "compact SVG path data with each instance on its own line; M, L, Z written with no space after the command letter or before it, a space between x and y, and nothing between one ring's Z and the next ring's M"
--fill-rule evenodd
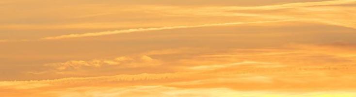
M78 91L78 92L75 92ZM238 91L228 88L176 88L169 86L81 87L54 91L44 96L58 97L354 97L353 91L275 92Z

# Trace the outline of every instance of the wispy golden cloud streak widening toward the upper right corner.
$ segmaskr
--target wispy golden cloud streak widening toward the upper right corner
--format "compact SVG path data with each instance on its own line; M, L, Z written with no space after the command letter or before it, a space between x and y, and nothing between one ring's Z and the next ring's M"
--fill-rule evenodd
M152 12L161 12L166 15L206 17L226 16L244 17L244 19L296 19L301 22L322 23L327 25L337 25L356 29L354 20L355 6L347 4L356 4L356 0L330 0L316 2L286 3L265 6L213 6L196 7L186 9L182 7L168 7L169 11L162 9L152 10Z

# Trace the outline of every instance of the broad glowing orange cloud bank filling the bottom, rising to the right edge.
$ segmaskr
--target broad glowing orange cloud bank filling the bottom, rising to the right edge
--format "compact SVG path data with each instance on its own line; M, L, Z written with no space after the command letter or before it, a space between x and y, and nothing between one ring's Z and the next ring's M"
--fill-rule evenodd
M135 69L132 69L132 65L137 64L144 69L152 70L162 66L178 69L168 73L116 73L112 76L75 78L68 78L69 75L66 75L66 78L56 80L0 81L0 91L5 92L2 95L10 97L10 93L15 93L16 96L29 95L28 93L20 94L23 92L32 93L32 96L37 97L53 95L94 97L180 95L184 97L205 96L206 91L220 91L220 94L226 94L228 97L241 96L236 94L240 92L249 94L246 92L256 91L259 91L260 94L251 95L280 97L292 95L298 97L295 93L301 90L308 91L300 93L300 97L325 95L326 92L330 96L340 96L340 92L336 90L348 90L356 86L354 84L356 78L352 73L356 69L355 61L338 61L355 59L355 57L340 57L347 54L346 52L356 53L353 48L355 47L344 48L342 45L335 47L333 45L300 46L294 44L278 49L229 49L224 51L222 49L163 49L162 51L148 51L145 53L147 55L68 61L48 66L53 66L58 71L83 69L91 73L97 72L91 71L87 67L102 70L104 67L117 66L133 71ZM154 60L158 59L164 65L157 67L146 65L155 63ZM110 72L123 69L112 69ZM75 70L73 72L78 73ZM160 89L160 87L164 88ZM336 92L330 93L324 91L325 89ZM231 91L232 94L226 90ZM271 95L266 90L274 91L275 95Z

